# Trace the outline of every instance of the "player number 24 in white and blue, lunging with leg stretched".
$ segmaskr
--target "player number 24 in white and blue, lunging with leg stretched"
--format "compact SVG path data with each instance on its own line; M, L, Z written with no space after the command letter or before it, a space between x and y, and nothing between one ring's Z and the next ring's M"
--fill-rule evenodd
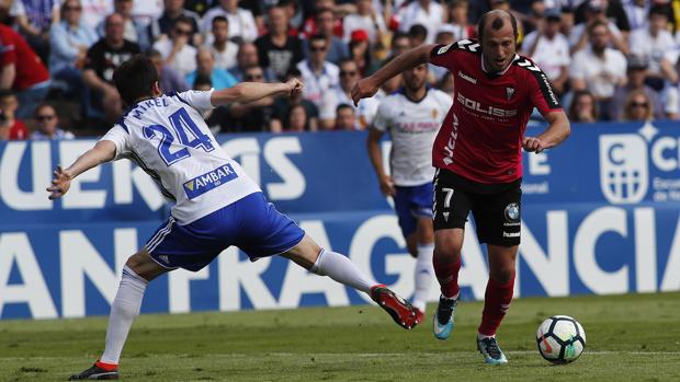
M139 314L149 281L184 268L197 271L230 245L251 261L281 255L304 268L369 293L404 328L417 324L416 311L401 298L364 275L345 256L325 251L268 202L259 186L217 143L201 113L230 102L295 95L303 83L239 83L222 91L163 95L158 72L145 57L124 62L113 74L123 101L131 105L97 144L69 167L55 170L50 199L64 196L70 181L102 163L127 158L144 169L174 200L170 217L146 245L125 263L111 306L101 358L70 380L118 378L123 345Z

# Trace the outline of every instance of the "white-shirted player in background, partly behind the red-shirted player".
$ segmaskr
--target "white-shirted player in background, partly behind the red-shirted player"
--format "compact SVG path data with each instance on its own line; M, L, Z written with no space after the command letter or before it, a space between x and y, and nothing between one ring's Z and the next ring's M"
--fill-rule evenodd
M403 77L404 89L381 103L366 146L381 190L394 198L406 245L416 257L416 291L411 303L421 322L434 275L432 143L453 100L442 91L428 89L426 65L404 71ZM392 138L389 175L385 173L379 146L385 132Z

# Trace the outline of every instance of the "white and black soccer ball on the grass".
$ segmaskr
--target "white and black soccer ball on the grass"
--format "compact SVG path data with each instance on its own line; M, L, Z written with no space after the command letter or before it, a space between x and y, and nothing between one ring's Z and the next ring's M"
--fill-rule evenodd
M536 331L536 345L543 358L553 363L575 361L586 348L586 332L568 315L546 319Z

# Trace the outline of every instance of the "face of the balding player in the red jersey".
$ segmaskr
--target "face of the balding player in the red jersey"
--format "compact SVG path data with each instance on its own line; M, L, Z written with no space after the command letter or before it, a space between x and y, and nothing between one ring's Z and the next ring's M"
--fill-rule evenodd
M484 63L487 70L492 73L503 71L514 58L517 45L514 33L509 20L505 20L503 26L494 30L488 23L481 40L484 51Z

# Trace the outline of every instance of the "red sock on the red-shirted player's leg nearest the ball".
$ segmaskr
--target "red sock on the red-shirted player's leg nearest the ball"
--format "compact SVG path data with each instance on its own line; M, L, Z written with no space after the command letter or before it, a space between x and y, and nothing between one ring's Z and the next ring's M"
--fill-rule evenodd
M489 277L484 296L484 311L481 312L481 324L478 332L485 336L496 335L496 329L506 316L506 312L512 301L514 288L514 273L507 283L500 283Z

